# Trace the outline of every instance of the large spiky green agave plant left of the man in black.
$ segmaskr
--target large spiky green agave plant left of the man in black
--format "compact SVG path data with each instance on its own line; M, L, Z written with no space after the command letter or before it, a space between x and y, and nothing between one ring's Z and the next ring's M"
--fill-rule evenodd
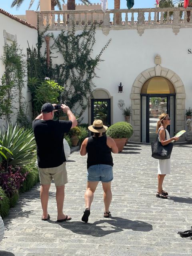
M4 129L0 130L0 140L4 147L9 150L1 149L8 165L22 166L34 162L36 143L32 130L20 128L18 124L15 127L9 124L6 131ZM10 152L12 152L12 155Z

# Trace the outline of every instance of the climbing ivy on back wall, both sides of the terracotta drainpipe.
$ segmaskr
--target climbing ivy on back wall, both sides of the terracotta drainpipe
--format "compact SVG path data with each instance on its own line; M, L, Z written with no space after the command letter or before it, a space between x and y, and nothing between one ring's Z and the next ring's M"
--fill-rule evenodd
M64 91L59 96L60 103L65 103L81 117L89 106L88 96L92 95L95 87L93 83L93 78L97 77L95 69L98 68L99 62L103 61L101 55L111 39L100 53L93 57L93 46L96 43L95 26L92 25L90 28L85 26L83 32L76 35L73 25L71 31L62 30L57 38L51 35L54 40L51 50L62 54L63 63L53 66L53 56L50 52L50 68L47 68L46 51L44 55L41 52L46 31L47 28L41 33L38 30L37 48L27 49L28 78L36 77L42 81L45 77L49 77L64 86ZM35 101L32 101L33 109L36 108L34 104Z

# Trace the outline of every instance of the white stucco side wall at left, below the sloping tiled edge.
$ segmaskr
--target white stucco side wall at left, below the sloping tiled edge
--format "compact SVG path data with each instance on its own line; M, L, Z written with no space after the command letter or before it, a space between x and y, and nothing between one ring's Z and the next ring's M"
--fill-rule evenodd
M37 42L37 30L34 28L30 28L20 22L9 18L8 16L0 13L0 56L3 55L3 46L4 46L4 34L3 30L6 30L7 33L16 35L17 42L20 45L20 48L23 49L23 53L26 55L26 49L28 47L28 43L30 47L35 46ZM10 41L8 41L10 42ZM5 67L2 64L2 60L0 60L0 78L5 71ZM25 88L23 90L23 96L26 102L29 105L29 111L31 112L31 104L30 104L30 93L28 89ZM13 122L16 121L16 115L12 116ZM0 120L0 124L2 121Z

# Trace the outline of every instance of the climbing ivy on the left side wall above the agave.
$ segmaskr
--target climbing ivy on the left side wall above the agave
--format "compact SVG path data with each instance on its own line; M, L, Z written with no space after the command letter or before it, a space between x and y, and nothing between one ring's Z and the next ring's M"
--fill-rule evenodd
M4 86L6 86L6 95L4 102L6 104L6 110L4 111L6 124L11 121L11 114L13 109L17 108L17 122L21 126L27 126L29 124L27 114L27 104L24 101L22 95L22 89L25 87L26 78L26 59L20 46L13 42L12 44L4 45L4 54L1 60L5 66L5 73L2 77L1 92L4 93Z

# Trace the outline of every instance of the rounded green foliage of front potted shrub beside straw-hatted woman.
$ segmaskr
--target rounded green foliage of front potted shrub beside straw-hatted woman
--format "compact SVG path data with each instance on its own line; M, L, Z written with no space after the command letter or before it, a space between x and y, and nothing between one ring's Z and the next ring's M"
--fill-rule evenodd
M107 129L106 135L114 139L130 138L131 131L128 126L124 124L113 124Z

